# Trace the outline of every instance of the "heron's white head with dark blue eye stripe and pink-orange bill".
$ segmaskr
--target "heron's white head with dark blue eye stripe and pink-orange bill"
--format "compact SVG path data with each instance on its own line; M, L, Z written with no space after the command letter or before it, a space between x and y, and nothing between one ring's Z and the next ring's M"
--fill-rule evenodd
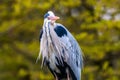
M60 17L55 16L55 14L52 11L48 11L45 15L44 15L44 19L49 20L52 24L55 23L56 20L60 19Z

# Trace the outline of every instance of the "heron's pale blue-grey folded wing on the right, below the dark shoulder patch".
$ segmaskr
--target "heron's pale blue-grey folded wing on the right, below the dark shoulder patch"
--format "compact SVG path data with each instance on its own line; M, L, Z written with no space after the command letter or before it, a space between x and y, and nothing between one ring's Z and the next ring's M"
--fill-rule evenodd
M82 68L83 66L83 58L82 58L82 50L79 47L79 44L77 43L76 39L72 36L72 34L61 24L57 24L59 26L62 26L67 31L67 36L62 37L62 42L67 45L67 49L69 50L68 56L70 56L73 61L73 63ZM70 61L70 60L69 60ZM68 61L68 64L72 64Z

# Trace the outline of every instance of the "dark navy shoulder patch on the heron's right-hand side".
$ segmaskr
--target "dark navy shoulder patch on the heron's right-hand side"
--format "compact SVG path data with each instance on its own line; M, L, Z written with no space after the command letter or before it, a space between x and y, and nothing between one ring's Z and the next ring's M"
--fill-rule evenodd
M61 25L61 24L56 24L56 26L55 26L55 28L54 28L54 31L57 33L57 35L58 35L59 37L62 37L62 36L64 36L64 35L67 36L67 31L66 31L66 29L64 28L64 26Z

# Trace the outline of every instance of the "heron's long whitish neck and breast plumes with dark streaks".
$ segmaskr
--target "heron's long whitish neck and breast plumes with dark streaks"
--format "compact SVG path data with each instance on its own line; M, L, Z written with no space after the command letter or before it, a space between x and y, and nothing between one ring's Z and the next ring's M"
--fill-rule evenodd
M39 57L42 54L42 65L44 64L44 59L49 60L53 54L62 62L63 49L65 50L66 47L60 41L60 38L54 31L54 27L55 23L53 25L49 20L44 21L39 53Z

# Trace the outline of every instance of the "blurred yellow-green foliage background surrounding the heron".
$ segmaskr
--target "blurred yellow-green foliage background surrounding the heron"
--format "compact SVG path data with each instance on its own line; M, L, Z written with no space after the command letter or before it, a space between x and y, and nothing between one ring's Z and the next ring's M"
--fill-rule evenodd
M57 22L81 45L82 80L119 80L119 4L120 0L0 0L0 80L53 80L46 67L35 64L48 10L61 17ZM105 14L110 18L104 19Z

